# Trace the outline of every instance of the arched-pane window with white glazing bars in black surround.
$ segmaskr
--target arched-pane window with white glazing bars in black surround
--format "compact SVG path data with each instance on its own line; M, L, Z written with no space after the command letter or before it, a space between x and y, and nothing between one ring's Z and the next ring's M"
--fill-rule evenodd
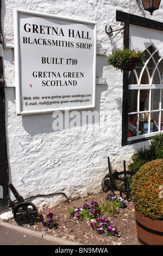
M129 74L128 141L163 131L163 57L154 44L145 63Z

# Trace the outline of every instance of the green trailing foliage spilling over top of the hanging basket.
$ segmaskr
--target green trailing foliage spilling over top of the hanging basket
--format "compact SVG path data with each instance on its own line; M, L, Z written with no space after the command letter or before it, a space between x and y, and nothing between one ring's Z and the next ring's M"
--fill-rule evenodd
M137 66L143 65L143 60L145 59L145 53L137 49L129 49L123 47L112 50L112 53L108 56L108 63L114 68L120 69L120 64L122 62L129 62L131 59L137 60Z

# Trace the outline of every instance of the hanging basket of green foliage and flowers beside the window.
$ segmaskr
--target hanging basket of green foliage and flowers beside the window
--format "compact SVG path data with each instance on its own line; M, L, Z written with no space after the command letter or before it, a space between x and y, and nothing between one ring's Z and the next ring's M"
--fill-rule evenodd
M112 50L108 56L108 63L116 69L131 71L136 66L142 66L144 58L143 51L123 47L123 49Z

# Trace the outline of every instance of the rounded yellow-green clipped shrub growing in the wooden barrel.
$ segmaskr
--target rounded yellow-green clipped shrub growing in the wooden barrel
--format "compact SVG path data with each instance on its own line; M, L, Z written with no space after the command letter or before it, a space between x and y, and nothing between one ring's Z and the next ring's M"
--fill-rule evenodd
M163 185L163 159L144 164L133 176L132 201L143 216L163 220L163 199L159 187Z

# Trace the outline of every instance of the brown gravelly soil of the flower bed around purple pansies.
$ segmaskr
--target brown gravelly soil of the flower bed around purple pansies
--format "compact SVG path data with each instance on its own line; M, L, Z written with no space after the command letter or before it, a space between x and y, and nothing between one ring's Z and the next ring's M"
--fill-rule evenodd
M118 197L118 192L116 194ZM90 204L92 200L96 201L98 204L102 204L107 195L107 193L102 192L74 200L70 203L61 203L58 206L54 206L53 209L42 210L39 212L40 217L38 217L37 224L23 227L48 235L58 236L62 239L71 240L83 245L139 245L136 234L135 211L132 202L127 203L127 208L119 208L115 217L110 217L110 221L113 221L114 225L117 227L117 236L109 237L98 234L91 228L90 220L78 221L76 218L69 216L68 209L72 207L76 209L83 206L85 203ZM53 213L54 218L58 220L59 223L58 228L54 230L44 227L41 223L42 220L46 220L46 215L49 212ZM17 225L15 220L12 220L11 223Z

